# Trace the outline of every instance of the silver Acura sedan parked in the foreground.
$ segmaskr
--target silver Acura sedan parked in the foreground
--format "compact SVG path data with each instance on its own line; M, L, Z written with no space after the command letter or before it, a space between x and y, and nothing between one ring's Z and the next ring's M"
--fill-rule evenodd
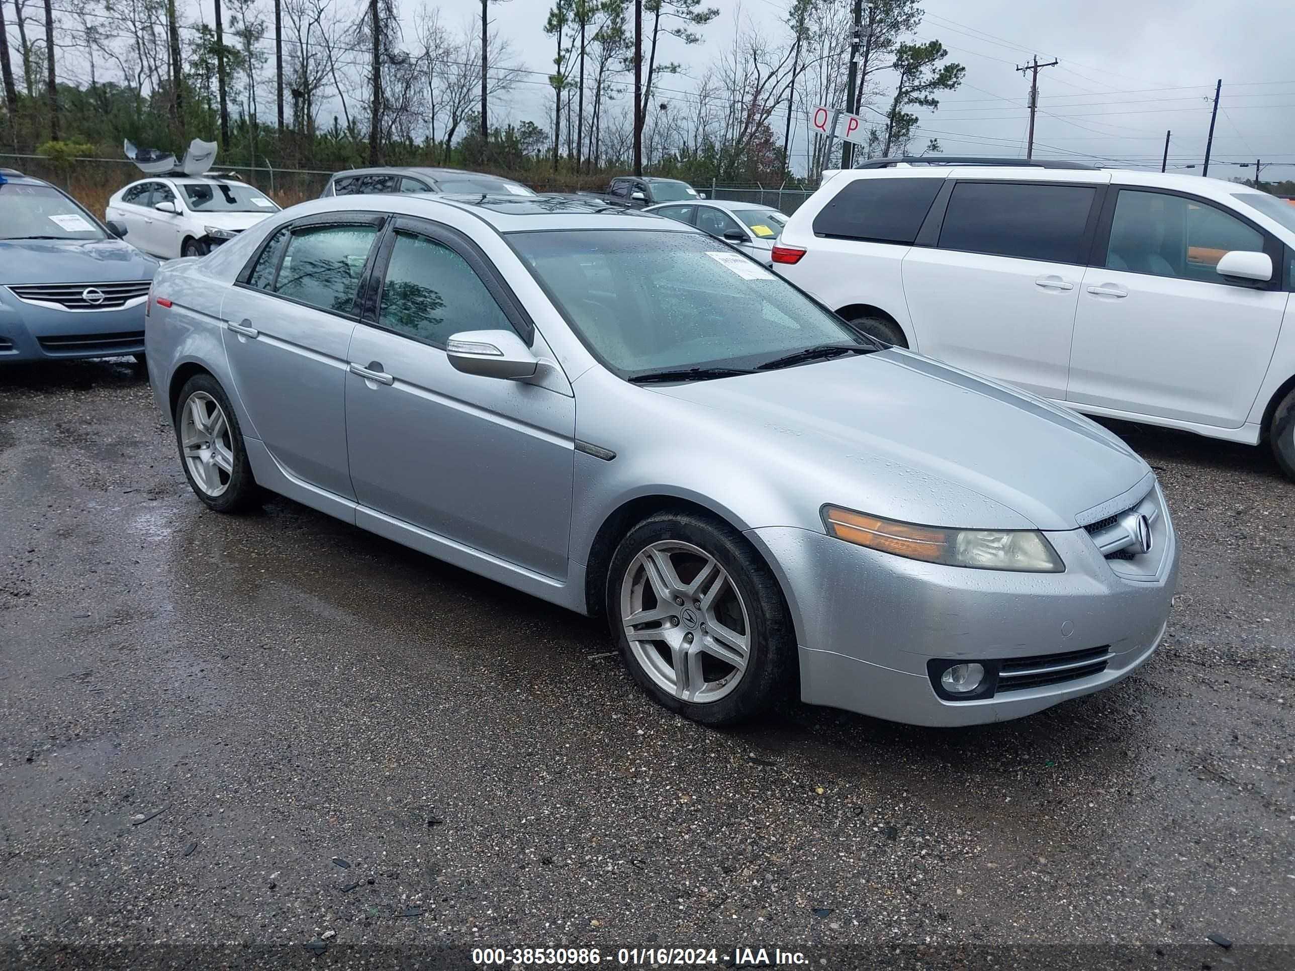
M148 308L207 506L269 489L605 614L638 684L698 721L786 695L1011 719L1164 633L1177 542L1116 436L862 337L679 223L319 199L166 264Z

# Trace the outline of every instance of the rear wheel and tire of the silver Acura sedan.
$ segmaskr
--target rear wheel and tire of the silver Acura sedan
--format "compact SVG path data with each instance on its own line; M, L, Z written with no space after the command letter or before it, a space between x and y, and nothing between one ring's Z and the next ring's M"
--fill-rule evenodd
M180 388L175 440L189 488L208 509L241 513L256 505L259 489L238 416L210 374L194 374Z

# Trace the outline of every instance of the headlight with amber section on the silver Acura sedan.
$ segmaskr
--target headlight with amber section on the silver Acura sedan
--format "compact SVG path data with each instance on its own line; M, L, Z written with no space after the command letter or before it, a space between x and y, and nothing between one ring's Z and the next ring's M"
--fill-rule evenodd
M927 563L1028 574L1066 570L1057 550L1037 530L943 530L839 506L824 506L822 522L828 535L838 540Z

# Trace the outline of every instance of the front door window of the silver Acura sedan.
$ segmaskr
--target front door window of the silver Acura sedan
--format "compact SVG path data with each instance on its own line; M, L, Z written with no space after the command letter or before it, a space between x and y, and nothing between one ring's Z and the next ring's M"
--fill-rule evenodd
M490 290L448 246L396 233L382 284L378 324L444 346L460 330L512 330Z

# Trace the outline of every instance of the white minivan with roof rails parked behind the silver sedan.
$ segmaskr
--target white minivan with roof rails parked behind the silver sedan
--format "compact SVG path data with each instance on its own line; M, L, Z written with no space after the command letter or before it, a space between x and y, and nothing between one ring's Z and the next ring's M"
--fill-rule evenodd
M1295 478L1295 206L1076 163L868 164L825 173L791 216L787 280L1076 410L1268 441Z

